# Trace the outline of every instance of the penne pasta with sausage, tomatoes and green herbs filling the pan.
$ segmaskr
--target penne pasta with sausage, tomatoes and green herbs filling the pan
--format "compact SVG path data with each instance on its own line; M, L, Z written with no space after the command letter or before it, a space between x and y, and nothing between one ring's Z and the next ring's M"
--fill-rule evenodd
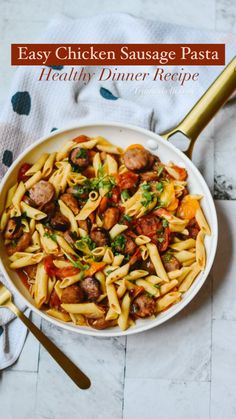
M126 330L178 303L206 264L210 227L185 168L139 144L80 135L23 163L0 228L36 307Z

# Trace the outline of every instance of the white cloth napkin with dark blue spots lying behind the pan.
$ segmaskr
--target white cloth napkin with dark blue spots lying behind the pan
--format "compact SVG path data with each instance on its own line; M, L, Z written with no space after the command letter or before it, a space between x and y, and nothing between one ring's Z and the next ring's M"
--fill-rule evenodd
M79 20L58 17L38 42L45 43L226 43L226 62L236 50L229 34L192 30L126 14L106 14ZM166 70L167 67L164 67ZM45 67L49 71L48 67ZM160 133L173 127L211 84L222 67L184 67L200 73L198 82L37 81L40 68L17 70L9 98L0 116L0 175L29 144L56 128L89 121L121 121ZM63 73L69 67L55 71ZM76 70L79 70L77 67ZM86 67L98 72L99 68ZM120 67L119 71L149 71L153 67ZM170 70L170 68L169 68ZM180 67L172 68L180 71ZM170 90L171 88L175 90ZM7 282L5 279L1 279ZM15 297L19 307L22 301ZM9 312L0 312L0 369L19 356L26 331Z

